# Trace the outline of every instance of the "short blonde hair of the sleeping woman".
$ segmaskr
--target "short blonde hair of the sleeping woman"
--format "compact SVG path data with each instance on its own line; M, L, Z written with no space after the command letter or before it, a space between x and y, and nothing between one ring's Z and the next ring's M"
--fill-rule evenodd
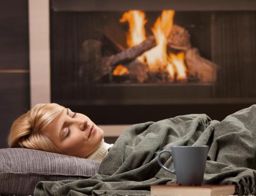
M59 104L37 104L29 112L18 117L8 135L8 145L12 148L31 148L60 153L58 148L42 130L63 111Z

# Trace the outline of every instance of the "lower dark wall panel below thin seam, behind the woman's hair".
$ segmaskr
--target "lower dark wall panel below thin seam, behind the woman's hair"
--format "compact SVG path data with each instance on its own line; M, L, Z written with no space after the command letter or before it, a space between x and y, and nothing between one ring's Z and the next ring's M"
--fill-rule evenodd
M29 73L0 74L0 148L7 147L12 122L30 109Z

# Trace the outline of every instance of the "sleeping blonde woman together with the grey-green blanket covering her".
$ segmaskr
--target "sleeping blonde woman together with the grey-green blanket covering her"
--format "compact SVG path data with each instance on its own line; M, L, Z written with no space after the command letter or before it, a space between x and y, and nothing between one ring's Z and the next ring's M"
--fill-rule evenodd
M101 162L92 179L40 182L35 195L56 195L56 190L66 195L69 190L87 195L93 190L150 195L152 184L176 182L175 175L166 173L157 161L158 152L174 145L209 145L203 184L235 184L236 194L255 195L255 116L253 105L221 122L206 114L189 114L135 124L113 145L104 142L103 130L88 116L54 103L38 104L13 122L8 144ZM162 159L166 167L173 167L170 155Z

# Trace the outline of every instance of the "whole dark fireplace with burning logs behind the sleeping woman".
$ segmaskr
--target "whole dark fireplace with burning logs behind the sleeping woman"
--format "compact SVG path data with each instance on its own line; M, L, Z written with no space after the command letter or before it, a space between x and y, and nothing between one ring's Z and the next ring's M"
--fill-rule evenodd
M51 1L52 102L101 124L255 103L255 10L150 2Z

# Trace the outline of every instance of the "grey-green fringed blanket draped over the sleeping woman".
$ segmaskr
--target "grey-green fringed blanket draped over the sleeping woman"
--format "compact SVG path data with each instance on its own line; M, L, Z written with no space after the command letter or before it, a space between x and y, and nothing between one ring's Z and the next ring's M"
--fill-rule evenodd
M175 174L157 162L158 152L174 145L209 145L203 184L234 184L235 195L256 195L256 105L221 122L206 114L190 114L132 125L115 142L95 176L41 181L34 195L150 196L150 185L176 183ZM162 163L173 168L167 153L162 154Z

